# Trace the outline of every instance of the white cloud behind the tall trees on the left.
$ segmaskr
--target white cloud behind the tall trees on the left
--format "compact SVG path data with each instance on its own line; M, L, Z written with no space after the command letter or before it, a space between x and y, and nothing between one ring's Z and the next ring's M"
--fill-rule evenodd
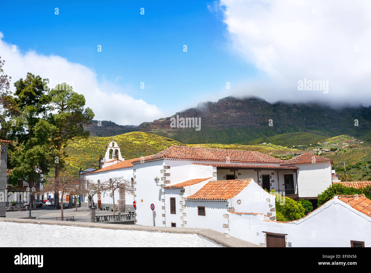
M70 82L74 91L85 96L86 106L93 110L96 120L138 125L143 121L152 121L163 116L155 105L125 94L125 92L132 92L130 87L127 86L124 90L114 82L105 80L99 82L95 72L84 65L69 62L66 58L56 55L45 56L34 51L23 52L18 46L16 52L12 52L12 45L4 42L1 32L0 56L5 60L4 72L12 77L13 92L13 83L20 78L25 78L27 72L31 72L42 78L49 78L51 81Z

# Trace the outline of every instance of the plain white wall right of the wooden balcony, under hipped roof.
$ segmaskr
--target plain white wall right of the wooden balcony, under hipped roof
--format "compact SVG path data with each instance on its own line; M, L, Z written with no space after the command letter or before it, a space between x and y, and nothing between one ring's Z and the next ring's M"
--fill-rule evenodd
M332 184L331 163L298 165L299 198L315 197Z

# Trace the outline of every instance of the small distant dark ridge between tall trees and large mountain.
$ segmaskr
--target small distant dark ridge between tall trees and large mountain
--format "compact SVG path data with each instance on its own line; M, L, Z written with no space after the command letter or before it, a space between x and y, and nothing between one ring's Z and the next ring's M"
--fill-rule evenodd
M102 120L98 124L98 120L92 120L92 124L85 126L85 131L90 131L90 136L108 137L118 134L125 134L132 131L137 131L138 126L135 125L118 125L112 121Z

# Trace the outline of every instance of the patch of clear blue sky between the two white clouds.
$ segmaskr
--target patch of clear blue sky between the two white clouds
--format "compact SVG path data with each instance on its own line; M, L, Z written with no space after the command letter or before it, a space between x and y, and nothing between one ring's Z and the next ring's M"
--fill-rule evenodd
M207 8L211 1L76 2L1 4L7 10L0 29L4 40L88 66L99 80L115 82L124 92L130 86L132 97L164 112L165 99L165 107L182 110L200 94L207 97L256 72L229 52L226 25Z

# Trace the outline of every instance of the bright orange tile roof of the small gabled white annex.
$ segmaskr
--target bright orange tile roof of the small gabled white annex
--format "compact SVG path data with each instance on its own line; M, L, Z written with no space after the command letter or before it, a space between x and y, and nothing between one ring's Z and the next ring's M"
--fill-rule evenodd
M251 181L251 178L210 181L186 200L227 200L239 194Z

